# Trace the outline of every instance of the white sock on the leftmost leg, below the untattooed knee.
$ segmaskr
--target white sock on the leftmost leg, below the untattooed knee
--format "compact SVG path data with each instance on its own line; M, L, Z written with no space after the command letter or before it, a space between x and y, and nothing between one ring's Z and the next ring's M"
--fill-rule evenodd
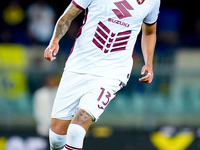
M49 142L51 149L61 150L66 142L66 135L59 135L53 132L51 129L49 130Z

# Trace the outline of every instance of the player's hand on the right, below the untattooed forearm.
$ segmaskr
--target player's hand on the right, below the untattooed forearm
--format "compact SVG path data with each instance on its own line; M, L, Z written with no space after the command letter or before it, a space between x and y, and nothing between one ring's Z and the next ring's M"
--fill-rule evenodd
M143 77L139 78L139 81L150 84L154 77L152 67L146 65L143 66L141 70L141 75L143 75Z

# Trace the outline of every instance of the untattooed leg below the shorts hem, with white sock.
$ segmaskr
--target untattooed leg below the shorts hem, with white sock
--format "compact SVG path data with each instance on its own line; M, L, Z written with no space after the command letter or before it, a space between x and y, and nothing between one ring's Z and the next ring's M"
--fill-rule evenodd
M70 122L71 120L51 119L51 129L49 130L51 150L62 150L64 148Z

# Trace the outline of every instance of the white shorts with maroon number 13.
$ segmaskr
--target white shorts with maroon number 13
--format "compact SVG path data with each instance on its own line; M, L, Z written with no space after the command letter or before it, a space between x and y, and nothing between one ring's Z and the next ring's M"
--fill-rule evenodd
M51 117L72 120L81 108L96 121L121 88L120 80L64 71Z

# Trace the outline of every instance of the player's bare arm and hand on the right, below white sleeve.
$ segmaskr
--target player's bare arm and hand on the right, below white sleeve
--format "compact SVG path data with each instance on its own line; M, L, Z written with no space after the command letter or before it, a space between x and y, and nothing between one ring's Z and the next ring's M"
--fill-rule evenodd
M154 24L142 24L142 53L145 65L142 67L141 75L144 75L139 81L144 83L151 83L154 77L153 73L153 56L156 45L156 26Z

